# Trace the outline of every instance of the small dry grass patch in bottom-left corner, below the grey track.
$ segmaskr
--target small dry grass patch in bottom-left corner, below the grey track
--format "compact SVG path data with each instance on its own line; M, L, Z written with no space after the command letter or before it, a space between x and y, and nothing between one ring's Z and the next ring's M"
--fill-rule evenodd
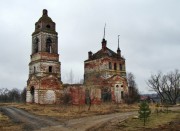
M7 116L0 112L0 131L22 131L22 126L13 123Z

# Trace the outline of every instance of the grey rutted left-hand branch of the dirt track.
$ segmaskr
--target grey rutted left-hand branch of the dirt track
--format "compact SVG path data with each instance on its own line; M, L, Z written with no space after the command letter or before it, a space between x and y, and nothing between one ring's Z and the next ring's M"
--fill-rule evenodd
M61 123L57 119L30 114L14 107L1 107L0 110L15 123L23 124L23 130L37 130L42 127L56 126Z

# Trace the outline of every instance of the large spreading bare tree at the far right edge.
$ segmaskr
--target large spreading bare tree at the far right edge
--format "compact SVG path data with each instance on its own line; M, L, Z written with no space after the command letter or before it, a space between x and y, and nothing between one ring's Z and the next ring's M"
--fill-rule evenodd
M178 70L166 75L161 72L151 75L147 85L160 96L163 103L176 104L180 97L180 73Z

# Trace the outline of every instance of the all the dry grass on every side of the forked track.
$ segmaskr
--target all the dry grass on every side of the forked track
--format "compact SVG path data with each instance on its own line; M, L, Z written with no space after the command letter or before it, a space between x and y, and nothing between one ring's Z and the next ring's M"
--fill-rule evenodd
M126 104L113 104L104 103L101 105L92 105L90 111L87 105L82 106L65 106L65 105L37 105L37 104L17 104L17 103L4 103L0 106L13 106L20 109L24 109L28 112L37 115L52 116L60 119L72 119L92 115L103 115L115 112L127 112L127 111L138 111L138 104L126 105ZM139 119L129 118L123 122L114 123L114 127L117 130L148 130L152 128L161 128L164 124L170 123L171 121L180 121L180 110L169 111L166 113L165 108L160 108L161 113L155 112L155 105L150 104L152 110L151 116L148 118L146 126L143 126L143 122ZM21 124L13 123L7 116L0 112L0 130L10 131L12 129L21 130ZM179 128L180 129L180 128Z

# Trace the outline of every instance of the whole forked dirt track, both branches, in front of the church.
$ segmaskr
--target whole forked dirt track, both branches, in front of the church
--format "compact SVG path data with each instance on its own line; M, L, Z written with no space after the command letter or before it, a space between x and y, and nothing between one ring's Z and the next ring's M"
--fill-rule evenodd
M23 129L41 131L91 131L112 119L127 119L134 112L89 116L79 119L58 120L47 116L37 116L15 107L1 107L0 110L14 122L23 125Z

